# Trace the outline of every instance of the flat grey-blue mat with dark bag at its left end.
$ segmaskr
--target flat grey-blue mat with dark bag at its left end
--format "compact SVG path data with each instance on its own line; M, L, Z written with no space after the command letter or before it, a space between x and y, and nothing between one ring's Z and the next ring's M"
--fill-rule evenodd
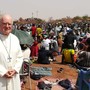
M43 76L51 76L52 68L50 67L31 67L30 68L30 77L34 80L39 80Z

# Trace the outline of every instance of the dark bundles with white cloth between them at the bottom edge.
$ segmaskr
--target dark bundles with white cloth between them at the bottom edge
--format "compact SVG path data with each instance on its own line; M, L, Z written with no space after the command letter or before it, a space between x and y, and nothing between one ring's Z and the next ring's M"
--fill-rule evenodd
M65 90L74 90L74 88L72 87L72 84L71 84L69 79L59 80L59 81L56 80L56 82L40 81L40 82L38 82L37 87L38 87L39 90L52 90L53 86L55 86L55 85L61 86ZM60 90L61 90L61 88L60 88Z

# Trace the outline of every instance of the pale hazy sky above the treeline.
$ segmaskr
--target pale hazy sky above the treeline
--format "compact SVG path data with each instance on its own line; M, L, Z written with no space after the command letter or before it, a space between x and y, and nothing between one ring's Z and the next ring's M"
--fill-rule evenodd
M90 16L90 0L0 0L0 13L8 13L14 19Z

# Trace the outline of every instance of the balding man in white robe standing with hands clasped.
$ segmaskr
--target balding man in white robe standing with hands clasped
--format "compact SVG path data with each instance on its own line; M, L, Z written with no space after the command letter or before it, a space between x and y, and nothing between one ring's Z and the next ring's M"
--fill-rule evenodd
M12 24L10 15L0 16L0 90L21 90L23 54L18 38L11 33Z

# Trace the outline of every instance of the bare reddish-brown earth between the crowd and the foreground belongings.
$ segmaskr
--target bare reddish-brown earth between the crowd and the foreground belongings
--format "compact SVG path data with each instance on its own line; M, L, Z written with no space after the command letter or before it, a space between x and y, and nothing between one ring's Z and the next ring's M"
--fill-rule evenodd
M45 78L54 78L54 79L69 79L72 81L73 84L76 83L77 80L77 70L73 67L70 67L69 65L62 65L60 64L61 62L61 56L56 57L56 62L51 62L50 65L41 65L41 64L32 64L32 66L46 66L46 67L52 67L52 76L44 77ZM59 68L63 68L64 70L61 73L58 73L57 70ZM22 87L22 90L37 90L37 80L32 80L29 77L26 78L27 83ZM31 81L31 87L30 87L30 82ZM55 90L52 89L52 90ZM63 90L63 89L57 89L57 90Z

